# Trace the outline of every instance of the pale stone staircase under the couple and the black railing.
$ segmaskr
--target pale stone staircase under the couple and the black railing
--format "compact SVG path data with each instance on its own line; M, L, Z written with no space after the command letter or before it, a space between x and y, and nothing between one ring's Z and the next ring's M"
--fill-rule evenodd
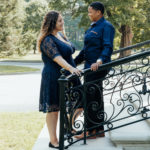
M137 118L130 119L134 121ZM57 135L59 136L59 129ZM109 131L105 135L105 138L87 140L86 145L83 141L77 142L68 150L150 150L150 120ZM45 125L32 150L51 150L48 142L49 135Z

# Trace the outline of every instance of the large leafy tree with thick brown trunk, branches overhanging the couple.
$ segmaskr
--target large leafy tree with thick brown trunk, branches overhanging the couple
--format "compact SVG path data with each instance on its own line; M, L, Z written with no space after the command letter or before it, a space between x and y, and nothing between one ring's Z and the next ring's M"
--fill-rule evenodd
M89 26L87 8L92 1L93 0L53 0L49 2L49 5L61 11L68 10L74 17L81 16L79 25L86 29ZM116 28L116 39L118 39L118 37L121 39L120 44L117 43L116 47L131 45L134 37L133 41L135 43L137 39L138 41L143 41L141 35L148 35L147 28L149 24L145 14L149 14L149 9L145 9L144 5L146 4L148 5L147 7L149 7L149 0L101 0L101 2L106 8L105 18ZM136 34L135 31L141 31L141 24L145 24L142 31L146 32ZM120 57L127 55L130 55L130 51L121 53Z

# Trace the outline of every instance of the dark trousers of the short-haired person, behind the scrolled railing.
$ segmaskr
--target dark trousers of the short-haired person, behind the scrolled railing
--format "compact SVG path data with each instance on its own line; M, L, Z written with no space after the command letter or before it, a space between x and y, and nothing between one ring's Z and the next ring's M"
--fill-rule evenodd
M103 102L103 85L102 79L108 73L108 70L101 72L93 72L85 77L86 86L86 100L87 100L87 116L86 127L87 131L104 130L101 124L104 122L104 102ZM99 80L99 81L95 81ZM93 81L93 82L92 82ZM88 82L91 82L88 84ZM98 127L95 127L98 126Z

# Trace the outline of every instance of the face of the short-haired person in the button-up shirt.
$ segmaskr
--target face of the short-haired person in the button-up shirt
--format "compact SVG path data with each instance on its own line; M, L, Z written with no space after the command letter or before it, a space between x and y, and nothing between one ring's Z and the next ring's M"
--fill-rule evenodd
M88 7L88 16L92 22L98 21L103 15L100 10L95 10L91 6Z

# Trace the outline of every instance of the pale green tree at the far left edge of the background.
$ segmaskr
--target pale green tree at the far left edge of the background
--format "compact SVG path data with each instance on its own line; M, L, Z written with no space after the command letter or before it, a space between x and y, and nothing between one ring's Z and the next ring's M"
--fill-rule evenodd
M16 43L20 32L20 9L19 4L22 1L0 0L0 57L10 56L16 51Z

